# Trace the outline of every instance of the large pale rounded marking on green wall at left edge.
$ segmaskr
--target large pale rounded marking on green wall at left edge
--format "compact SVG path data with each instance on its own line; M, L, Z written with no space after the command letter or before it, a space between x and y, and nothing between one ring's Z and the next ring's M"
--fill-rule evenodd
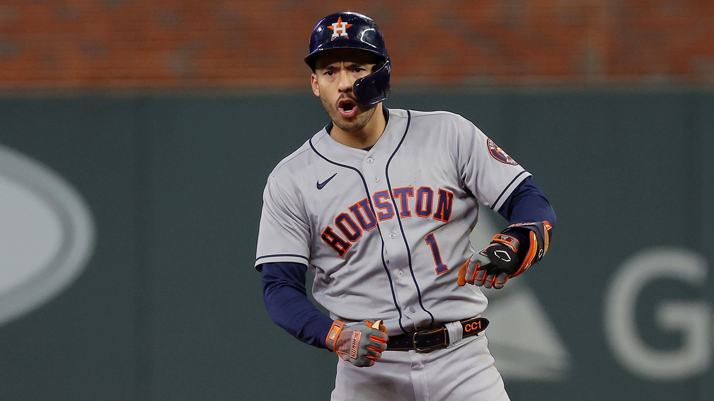
M0 324L74 282L94 238L89 207L66 179L0 145Z

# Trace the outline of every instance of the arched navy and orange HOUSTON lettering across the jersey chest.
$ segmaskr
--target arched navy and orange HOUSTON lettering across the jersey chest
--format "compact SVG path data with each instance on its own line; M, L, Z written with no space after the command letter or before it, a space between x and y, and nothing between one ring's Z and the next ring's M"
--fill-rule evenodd
M451 219L451 207L453 206L453 192L439 188L436 194L431 187L401 187L392 190L394 203L397 211L394 210L393 202L389 196L389 190L374 192L372 194L372 211L367 198L348 207L349 212L342 212L335 217L335 227L327 226L321 234L321 238L338 255L344 257L352 242L357 241L362 236L363 231L373 229L378 221L392 219L396 213L399 217L412 217L412 210L418 217L433 218L441 222L448 223ZM410 201L410 198L412 199ZM434 205L434 199L436 207ZM376 216L375 216L376 213Z

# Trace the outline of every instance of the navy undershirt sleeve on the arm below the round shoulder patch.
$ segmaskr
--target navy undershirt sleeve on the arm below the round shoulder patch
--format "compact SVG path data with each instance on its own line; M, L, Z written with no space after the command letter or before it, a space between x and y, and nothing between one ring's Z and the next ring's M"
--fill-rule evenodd
M511 196L506 199L501 209L498 209L498 213L505 217L509 224L548 220L555 226L555 211L531 177L524 179L511 192ZM510 230L508 235L515 236L521 244L526 244L528 241L526 234L520 230ZM518 256L521 256L521 259L526 256L527 248L521 246L519 249Z

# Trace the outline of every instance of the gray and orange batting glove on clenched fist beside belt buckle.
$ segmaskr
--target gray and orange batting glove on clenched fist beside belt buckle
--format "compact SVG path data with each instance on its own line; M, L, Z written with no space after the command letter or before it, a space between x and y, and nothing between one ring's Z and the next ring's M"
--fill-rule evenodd
M344 324L334 321L325 343L327 348L358 368L374 364L387 348L387 329L382 321Z

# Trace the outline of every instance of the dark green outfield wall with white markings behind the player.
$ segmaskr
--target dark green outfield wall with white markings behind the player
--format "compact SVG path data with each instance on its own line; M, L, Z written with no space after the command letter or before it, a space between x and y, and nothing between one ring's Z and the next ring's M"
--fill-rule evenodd
M543 262L488 293L512 400L714 400L714 94L397 91L387 105L472 120L558 215ZM54 172L94 222L71 280L0 285L0 312L49 291L0 323L0 400L329 399L335 355L271 322L253 269L266 177L328 122L316 98L5 95L0 121L0 149ZM11 283L79 228L3 155ZM483 224L479 236L506 222ZM33 263L54 269L45 259Z

